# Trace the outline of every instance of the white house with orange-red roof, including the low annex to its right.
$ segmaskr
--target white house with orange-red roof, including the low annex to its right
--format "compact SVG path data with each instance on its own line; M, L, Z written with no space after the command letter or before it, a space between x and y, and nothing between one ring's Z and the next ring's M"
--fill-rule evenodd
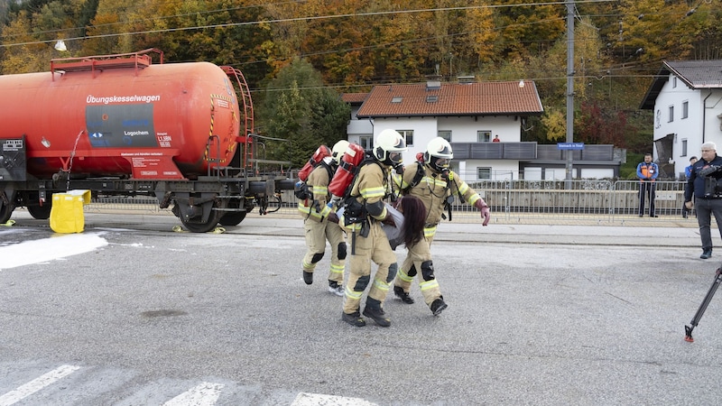
M556 144L523 142L526 120L542 115L534 82L458 82L375 86L369 93L346 93L351 105L348 141L366 149L376 134L391 128L403 134L405 162L440 136L451 143L452 167L467 181L563 180L566 156ZM495 142L498 136L499 142ZM620 161L613 145L588 145L574 151L574 178L611 178Z

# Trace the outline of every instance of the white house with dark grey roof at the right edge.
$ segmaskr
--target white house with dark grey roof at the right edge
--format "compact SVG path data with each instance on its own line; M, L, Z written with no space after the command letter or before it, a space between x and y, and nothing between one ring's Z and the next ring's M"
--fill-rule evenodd
M683 178L702 143L722 149L722 60L664 61L641 108L654 112L654 161Z

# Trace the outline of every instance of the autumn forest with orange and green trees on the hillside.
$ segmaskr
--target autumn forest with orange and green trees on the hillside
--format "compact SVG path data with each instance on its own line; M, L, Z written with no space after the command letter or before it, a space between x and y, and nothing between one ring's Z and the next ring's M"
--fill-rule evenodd
M303 157L345 137L342 92L430 77L532 80L545 113L523 141L557 143L568 4L574 141L650 152L644 94L663 60L722 59L722 0L0 0L0 73L149 48L167 62L231 65L251 88L256 130L310 145Z

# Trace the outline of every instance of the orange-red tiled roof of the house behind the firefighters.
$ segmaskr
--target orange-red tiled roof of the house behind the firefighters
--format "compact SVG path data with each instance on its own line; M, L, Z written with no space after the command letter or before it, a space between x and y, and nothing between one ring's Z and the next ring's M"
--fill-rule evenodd
M358 117L541 115L534 82L426 83L375 86Z

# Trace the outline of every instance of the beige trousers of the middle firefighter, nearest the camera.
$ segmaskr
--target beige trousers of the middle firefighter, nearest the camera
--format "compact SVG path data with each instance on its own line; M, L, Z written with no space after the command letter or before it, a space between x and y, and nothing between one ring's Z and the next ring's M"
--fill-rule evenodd
M372 262L378 266L373 281ZM374 299L384 303L391 281L396 276L396 254L393 254L381 223L372 221L366 237L356 235L356 254L349 256L348 263L344 313L353 314L358 311L361 297L369 284L371 289L368 291L367 300Z

